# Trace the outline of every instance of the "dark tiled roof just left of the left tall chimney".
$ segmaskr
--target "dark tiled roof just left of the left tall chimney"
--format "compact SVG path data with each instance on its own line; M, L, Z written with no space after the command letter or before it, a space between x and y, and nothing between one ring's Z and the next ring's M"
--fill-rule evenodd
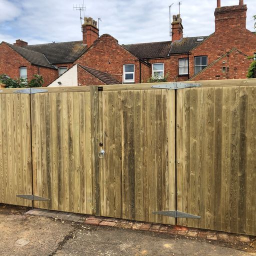
M71 41L33 44L23 48L43 53L51 64L60 64L73 62L87 46L82 41Z

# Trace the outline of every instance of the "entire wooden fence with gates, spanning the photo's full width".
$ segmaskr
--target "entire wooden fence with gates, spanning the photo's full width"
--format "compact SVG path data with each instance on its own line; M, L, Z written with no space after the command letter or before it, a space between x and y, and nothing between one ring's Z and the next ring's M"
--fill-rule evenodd
M0 90L0 202L256 235L256 79L199 83Z

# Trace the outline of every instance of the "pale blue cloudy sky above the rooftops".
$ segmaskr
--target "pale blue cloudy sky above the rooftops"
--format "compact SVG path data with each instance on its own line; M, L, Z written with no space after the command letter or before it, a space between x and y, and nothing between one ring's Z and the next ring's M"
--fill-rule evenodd
M221 0L221 6L239 0ZM82 40L80 14L73 5L83 0L0 0L0 41L23 39L28 44ZM172 4L173 3L173 4ZM254 30L255 0L247 4L247 29ZM84 0L85 16L99 22L99 34L108 33L120 44L170 40L171 16L178 13L174 0ZM214 32L216 0L181 0L183 36ZM83 15L83 13L82 13Z

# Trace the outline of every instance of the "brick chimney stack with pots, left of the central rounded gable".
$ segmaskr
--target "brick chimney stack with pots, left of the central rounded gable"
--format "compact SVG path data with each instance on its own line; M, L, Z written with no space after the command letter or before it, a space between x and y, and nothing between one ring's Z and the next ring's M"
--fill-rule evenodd
M82 24L82 42L90 47L93 42L98 38L97 21L91 17L84 17Z

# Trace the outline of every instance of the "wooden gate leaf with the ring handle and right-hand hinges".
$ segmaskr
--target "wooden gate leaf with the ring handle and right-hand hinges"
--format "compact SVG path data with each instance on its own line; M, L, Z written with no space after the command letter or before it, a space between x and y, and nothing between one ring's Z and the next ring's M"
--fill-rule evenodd
M174 91L105 86L99 91L100 214L174 224Z

